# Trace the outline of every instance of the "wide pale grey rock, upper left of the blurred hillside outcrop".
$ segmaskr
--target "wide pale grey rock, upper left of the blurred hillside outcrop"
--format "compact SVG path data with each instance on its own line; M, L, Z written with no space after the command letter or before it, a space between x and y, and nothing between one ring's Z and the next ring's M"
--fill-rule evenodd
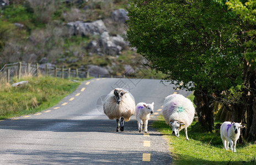
M97 20L92 23L84 23L82 21L75 21L67 23L68 32L71 35L100 35L107 31L105 24L102 20Z

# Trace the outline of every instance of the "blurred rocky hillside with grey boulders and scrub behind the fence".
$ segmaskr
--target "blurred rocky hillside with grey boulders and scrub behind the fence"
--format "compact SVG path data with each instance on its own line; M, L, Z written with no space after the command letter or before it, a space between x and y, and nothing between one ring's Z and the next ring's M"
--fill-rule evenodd
M22 61L101 75L156 77L125 39L126 4L127 0L0 0L0 67Z

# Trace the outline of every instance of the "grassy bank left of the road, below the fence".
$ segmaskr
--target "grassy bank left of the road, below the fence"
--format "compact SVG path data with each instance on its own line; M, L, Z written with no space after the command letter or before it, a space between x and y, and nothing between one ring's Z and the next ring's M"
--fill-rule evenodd
M80 84L67 79L43 76L22 78L20 81L29 83L19 87L9 84L1 87L0 119L36 113L52 107Z

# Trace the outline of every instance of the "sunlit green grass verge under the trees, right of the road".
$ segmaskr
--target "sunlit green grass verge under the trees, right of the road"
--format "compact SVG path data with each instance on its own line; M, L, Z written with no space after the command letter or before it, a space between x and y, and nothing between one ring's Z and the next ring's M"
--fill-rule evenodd
M163 116L159 116L152 127L167 139L173 164L256 164L256 143L237 144L236 153L226 151L219 129L214 133L206 133L202 131L204 129L201 125L194 121L188 128L187 141L184 129L180 131L180 138L172 136L172 128L164 122Z

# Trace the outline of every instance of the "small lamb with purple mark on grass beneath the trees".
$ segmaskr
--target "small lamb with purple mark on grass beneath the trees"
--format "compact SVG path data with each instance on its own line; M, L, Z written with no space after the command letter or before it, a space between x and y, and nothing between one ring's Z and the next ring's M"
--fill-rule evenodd
M224 122L221 124L221 139L225 150L228 150L230 143L230 150L236 152L237 140L240 136L240 128L244 128L242 123Z

